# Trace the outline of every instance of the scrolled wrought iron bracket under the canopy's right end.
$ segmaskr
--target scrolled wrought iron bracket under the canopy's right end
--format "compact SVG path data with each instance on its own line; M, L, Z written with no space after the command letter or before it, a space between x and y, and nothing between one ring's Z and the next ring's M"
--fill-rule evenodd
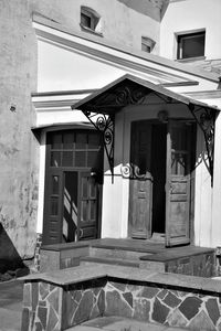
M207 107L196 107L192 104L189 105L189 109L204 136L204 142L209 161L209 172L211 175L211 183L213 184L215 111Z

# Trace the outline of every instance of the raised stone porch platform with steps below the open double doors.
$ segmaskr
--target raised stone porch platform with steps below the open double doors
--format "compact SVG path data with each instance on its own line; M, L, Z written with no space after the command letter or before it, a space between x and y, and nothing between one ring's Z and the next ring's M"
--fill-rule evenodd
M165 244L157 241L130 238L103 238L41 248L41 271L80 265L120 265L158 273L215 276L212 248L182 246L165 249Z

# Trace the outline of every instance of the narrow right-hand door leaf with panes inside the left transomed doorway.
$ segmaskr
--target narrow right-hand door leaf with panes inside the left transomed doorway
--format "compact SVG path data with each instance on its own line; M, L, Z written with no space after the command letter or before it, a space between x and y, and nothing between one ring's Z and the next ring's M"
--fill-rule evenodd
M77 238L94 239L98 237L98 184L90 172L80 172L78 226Z

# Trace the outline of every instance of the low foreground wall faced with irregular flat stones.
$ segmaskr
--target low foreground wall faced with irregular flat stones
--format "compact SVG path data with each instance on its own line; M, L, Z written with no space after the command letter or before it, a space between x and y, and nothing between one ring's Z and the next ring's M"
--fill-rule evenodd
M81 270L86 273L90 269ZM133 268L124 268L123 273L127 271L133 278ZM139 274L135 274L138 278ZM61 281L62 273L59 275ZM27 280L22 331L66 330L104 316L120 316L194 331L221 330L219 281L207 280L206 284L198 277L169 274L149 274L149 280L144 280L144 276L145 271L140 273L140 280L102 276L70 285ZM80 274L78 277L82 278Z

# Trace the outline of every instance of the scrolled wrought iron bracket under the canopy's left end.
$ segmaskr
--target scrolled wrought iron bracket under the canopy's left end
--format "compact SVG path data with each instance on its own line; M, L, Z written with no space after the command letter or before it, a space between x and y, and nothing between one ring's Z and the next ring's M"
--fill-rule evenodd
M102 140L114 182L114 124L115 118L110 115L91 113L82 110L94 128L102 134Z

